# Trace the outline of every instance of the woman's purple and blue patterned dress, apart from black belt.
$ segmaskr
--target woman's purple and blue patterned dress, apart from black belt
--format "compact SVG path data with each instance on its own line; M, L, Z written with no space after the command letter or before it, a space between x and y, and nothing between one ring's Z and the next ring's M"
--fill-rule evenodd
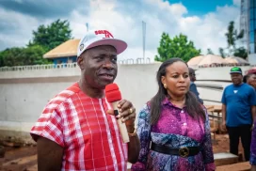
M146 104L138 116L138 136L141 149L138 162L132 171L210 171L215 170L209 118L190 117L186 108L174 106L166 98L162 102L162 114L151 126L150 108ZM151 150L151 141L171 148L200 147L200 153L183 158Z

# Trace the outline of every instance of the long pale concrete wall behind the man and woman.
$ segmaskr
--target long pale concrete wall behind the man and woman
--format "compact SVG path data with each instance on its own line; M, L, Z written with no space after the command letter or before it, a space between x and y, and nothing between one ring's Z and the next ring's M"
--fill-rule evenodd
M137 112L157 91L155 75L160 65L119 65L115 82L120 86L122 98L132 101ZM231 84L230 70L231 67L222 67L196 71L196 84L205 104L220 104L223 88ZM3 134L29 137L28 132L45 104L78 81L79 76L75 64L0 68L0 137Z

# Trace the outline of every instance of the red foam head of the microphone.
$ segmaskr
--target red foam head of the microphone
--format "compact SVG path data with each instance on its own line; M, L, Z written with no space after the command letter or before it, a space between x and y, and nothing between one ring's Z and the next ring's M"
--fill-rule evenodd
M114 101L120 101L121 96L120 96L120 88L117 84L109 84L105 85L105 98L106 101L108 102L114 102Z

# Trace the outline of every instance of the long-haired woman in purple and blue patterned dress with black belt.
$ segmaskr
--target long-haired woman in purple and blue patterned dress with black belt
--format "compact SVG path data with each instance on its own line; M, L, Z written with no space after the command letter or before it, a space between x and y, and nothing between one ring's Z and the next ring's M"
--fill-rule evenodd
M138 115L140 154L132 171L215 170L206 109L189 92L188 67L180 58L157 72L159 89Z

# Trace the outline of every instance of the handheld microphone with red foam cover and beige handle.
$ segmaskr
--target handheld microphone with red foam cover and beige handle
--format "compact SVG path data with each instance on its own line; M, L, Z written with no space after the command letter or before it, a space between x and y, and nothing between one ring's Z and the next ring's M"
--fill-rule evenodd
M105 97L106 100L112 104L112 107L114 109L115 116L118 116L119 109L118 109L118 103L121 100L120 96L120 88L117 84L110 84L105 86ZM119 128L120 128L120 135L123 143L130 142L129 135L127 132L127 128L125 123L121 122L121 118L117 120Z

